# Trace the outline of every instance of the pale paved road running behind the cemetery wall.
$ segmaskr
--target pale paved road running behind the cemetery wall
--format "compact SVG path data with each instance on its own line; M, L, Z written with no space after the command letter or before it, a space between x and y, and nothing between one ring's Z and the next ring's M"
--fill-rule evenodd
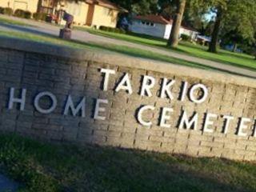
M57 37L59 33L59 26L50 25L45 22L36 22L34 20L27 20L23 18L15 18L15 17L9 17L6 15L1 15L1 18L8 18L13 19L15 21L20 22L26 22L30 26L14 26L14 25L7 25L4 23L0 23L0 30L6 30L6 31L21 31L21 32L27 32L27 33L33 33L33 34L46 34L46 35L52 35ZM242 76L246 76L249 78L256 78L256 71L254 70L248 70L237 66L230 66L225 65L220 62L214 62L210 60L206 60L203 58L196 58L190 55L186 54L178 54L173 51L169 50L163 50L160 48L156 48L153 46L144 46L140 44L136 44L133 42L126 42L122 40L117 40L113 38L106 38L102 37L96 34L90 34L86 31L81 30L74 30L72 34L72 38L74 40L79 40L82 42L94 42L94 43L108 43L108 44L114 44L114 45L121 45L121 46L129 46L132 48L138 48L142 50L149 50L154 53L163 54L166 56L170 56L173 58L180 58L183 60L186 60L188 62L197 62L205 66L210 66L218 70L222 70L224 72L228 72L231 74L240 74Z

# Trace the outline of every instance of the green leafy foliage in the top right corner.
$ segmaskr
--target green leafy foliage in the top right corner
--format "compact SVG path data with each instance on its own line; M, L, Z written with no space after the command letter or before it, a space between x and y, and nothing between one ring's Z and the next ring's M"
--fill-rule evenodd
M221 30L220 37L224 37L224 41L233 41L234 44L255 41L256 0L210 0L210 2L210 10L221 15L218 18L221 25L216 25L214 28ZM216 37L217 32L218 30L214 30L212 37ZM212 45L218 41L217 38L214 40L215 43Z

